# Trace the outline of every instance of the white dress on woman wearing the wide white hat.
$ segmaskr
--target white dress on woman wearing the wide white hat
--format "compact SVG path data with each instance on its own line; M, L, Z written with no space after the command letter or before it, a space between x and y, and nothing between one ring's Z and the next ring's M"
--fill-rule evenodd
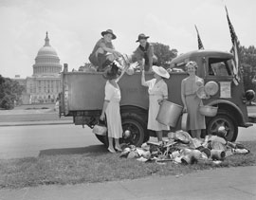
M156 120L159 112L160 105L157 100L163 100L164 97L168 97L168 87L166 82L160 80L156 82L156 79L152 79L146 82L149 87L149 118L148 129L153 131L170 130L169 126L159 123Z

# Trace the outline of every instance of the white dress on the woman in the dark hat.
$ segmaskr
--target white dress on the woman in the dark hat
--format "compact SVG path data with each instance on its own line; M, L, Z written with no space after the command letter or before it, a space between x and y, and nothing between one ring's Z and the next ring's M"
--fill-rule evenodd
M108 136L120 138L122 136L120 118L120 89L114 87L109 81L105 85L105 100L109 100L105 114L107 119Z

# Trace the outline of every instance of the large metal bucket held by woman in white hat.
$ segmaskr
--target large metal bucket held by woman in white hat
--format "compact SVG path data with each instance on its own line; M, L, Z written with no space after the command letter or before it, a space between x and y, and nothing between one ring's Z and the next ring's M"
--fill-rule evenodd
M182 110L182 106L168 100L163 100L156 120L164 125L175 127L178 118L182 114Z

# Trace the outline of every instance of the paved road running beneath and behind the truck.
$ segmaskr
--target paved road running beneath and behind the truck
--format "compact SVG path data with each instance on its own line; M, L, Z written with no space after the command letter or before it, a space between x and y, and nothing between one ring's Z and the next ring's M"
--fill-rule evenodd
M256 140L256 124L239 129L237 141L246 140ZM0 159L104 151L88 127L82 129L73 124L0 127Z

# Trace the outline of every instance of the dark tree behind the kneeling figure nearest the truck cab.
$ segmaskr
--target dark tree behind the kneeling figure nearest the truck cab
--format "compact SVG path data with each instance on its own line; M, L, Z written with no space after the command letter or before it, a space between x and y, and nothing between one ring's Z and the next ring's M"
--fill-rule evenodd
M160 43L152 43L152 45L154 45L154 53L158 59L157 65L165 68L169 67L170 62L177 56L177 50L170 49L169 45Z

